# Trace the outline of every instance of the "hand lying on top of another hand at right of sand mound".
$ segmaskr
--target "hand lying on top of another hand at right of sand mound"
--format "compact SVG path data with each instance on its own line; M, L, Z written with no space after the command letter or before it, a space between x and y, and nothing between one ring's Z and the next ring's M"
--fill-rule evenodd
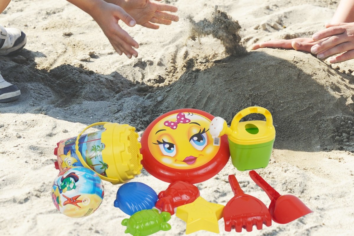
M354 23L326 24L326 28L315 33L313 40L325 39L311 48L318 58L325 58L335 54L339 56L329 58L330 63L347 61L354 58Z

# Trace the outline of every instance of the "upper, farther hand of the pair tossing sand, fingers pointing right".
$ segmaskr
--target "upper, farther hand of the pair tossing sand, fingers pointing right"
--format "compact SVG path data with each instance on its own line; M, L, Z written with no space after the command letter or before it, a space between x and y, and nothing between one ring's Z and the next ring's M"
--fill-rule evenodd
M159 25L169 25L172 21L178 21L178 16L167 12L176 12L178 9L164 3L152 2L150 0L105 0L121 6L136 23L150 29L158 29ZM161 1L161 0L157 0ZM167 12L166 12L167 11ZM153 24L154 23L154 24Z

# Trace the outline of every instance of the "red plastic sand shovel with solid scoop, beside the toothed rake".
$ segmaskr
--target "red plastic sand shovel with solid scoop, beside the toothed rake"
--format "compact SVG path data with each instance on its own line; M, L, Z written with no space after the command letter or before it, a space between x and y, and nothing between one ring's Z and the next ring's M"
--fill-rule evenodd
M313 211L294 195L280 195L256 172L250 171L251 179L261 187L270 198L269 213L274 222L286 224Z

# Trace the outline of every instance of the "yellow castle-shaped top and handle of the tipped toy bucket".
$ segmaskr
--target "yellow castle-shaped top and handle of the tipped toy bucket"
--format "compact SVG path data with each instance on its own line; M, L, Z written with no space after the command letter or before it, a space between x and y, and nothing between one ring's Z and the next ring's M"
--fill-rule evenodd
M98 162L98 164L94 164L91 160L92 157L90 157L90 162L88 163L89 159L87 158L87 155L84 155L80 152L80 150L82 151L83 148L79 147L79 140L80 136L88 128L97 125L103 125L105 130L103 132L98 131L86 135L86 137L91 136L91 141L94 140L103 144L101 150L99 150L101 151L102 155L98 155L98 157L102 157L102 161L94 160ZM100 135L101 139L99 140L99 137L96 137L95 135ZM104 168L104 174L98 173L98 176L101 179L111 182L112 184L121 184L128 182L129 180L133 179L135 175L141 173L141 144L138 142L137 138L138 134L135 132L135 128L132 126L126 124L120 125L118 123L110 122L93 123L92 125L87 126L78 135L78 137L76 137L75 151L82 166L91 168L96 172L94 167L101 165L102 167L99 169ZM80 143L87 143L91 141L81 140ZM86 148L86 152L92 152L92 150L95 149L94 145L90 146L92 148Z

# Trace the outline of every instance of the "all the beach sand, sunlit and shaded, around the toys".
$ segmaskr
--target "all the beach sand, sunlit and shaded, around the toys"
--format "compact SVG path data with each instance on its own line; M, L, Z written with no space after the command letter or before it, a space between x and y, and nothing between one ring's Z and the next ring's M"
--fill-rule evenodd
M53 149L87 125L127 123L141 135L160 114L178 108L204 110L230 125L238 111L256 105L272 113L276 129L270 163L258 173L314 212L239 235L351 235L353 60L330 65L293 50L251 51L255 42L311 36L338 2L166 2L179 8L179 22L158 30L122 25L140 44L134 59L115 53L95 21L66 1L13 1L0 15L2 25L28 36L19 56L0 57L2 76L22 93L17 102L0 104L0 234L124 235L120 223L127 215L113 207L117 185L104 183L102 205L86 218L68 218L51 201L58 174ZM233 196L229 174L247 194L270 203L230 161L196 184L201 196L225 205ZM156 192L168 185L144 170L132 181ZM156 235L185 234L181 219L169 223L172 230ZM219 229L235 234L224 231L222 219Z

